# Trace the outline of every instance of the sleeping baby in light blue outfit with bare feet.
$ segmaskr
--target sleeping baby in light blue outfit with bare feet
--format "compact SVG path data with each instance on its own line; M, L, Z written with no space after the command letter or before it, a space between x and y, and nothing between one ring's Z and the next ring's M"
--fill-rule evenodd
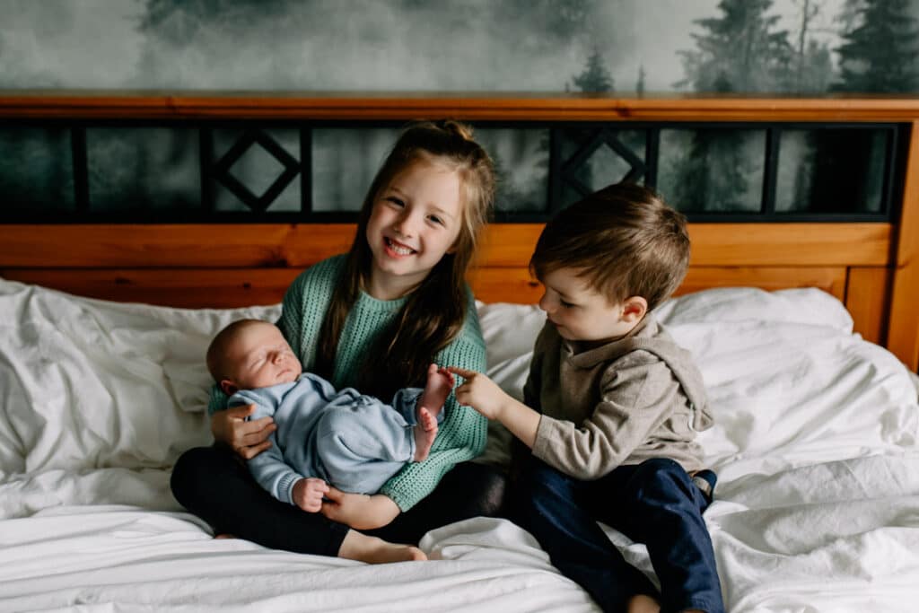
M425 460L437 437L437 415L455 379L432 364L424 390L396 392L392 405L354 389L335 392L300 360L274 324L240 320L211 341L208 369L229 406L255 404L251 419L272 416L271 447L247 460L249 471L281 502L322 508L331 483L373 494L403 468Z

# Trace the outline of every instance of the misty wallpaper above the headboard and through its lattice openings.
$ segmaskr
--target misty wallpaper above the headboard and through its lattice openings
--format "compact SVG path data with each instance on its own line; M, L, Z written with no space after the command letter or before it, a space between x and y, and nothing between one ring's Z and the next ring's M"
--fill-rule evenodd
M0 0L0 89L911 94L919 0ZM316 208L357 208L394 134L315 131ZM503 179L499 207L543 208L548 132L479 134ZM822 178L883 172L885 137L866 131L854 151L850 135L783 139L777 210L819 209L815 200L837 196L877 210L879 179L856 187ZM233 134L222 136L229 148ZM299 154L295 138L276 138ZM588 138L572 131L562 153ZM643 133L618 139L643 156ZM664 131L658 187L686 210L758 210L764 139ZM86 142L94 210L128 197L147 208L199 199L194 134L90 129ZM827 165L828 153L855 158ZM65 131L0 126L6 207L70 206L70 154ZM604 146L577 180L601 187L629 171ZM257 194L278 162L253 147L232 172ZM297 210L299 188L298 178L271 210ZM565 189L565 201L578 197ZM215 204L244 210L220 187Z

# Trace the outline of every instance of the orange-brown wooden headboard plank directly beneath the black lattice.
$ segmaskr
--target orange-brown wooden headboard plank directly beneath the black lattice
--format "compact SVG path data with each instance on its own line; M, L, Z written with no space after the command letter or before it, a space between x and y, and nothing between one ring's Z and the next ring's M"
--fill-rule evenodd
M541 224L494 223L483 267L527 267ZM304 267L354 240L337 224L0 225L0 267ZM692 266L887 266L889 223L691 223Z

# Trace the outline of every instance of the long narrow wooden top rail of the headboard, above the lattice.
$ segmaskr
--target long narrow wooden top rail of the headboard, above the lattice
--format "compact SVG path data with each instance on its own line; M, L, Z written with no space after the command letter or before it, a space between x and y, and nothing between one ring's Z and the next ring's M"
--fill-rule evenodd
M912 96L265 92L0 93L0 118L912 121Z

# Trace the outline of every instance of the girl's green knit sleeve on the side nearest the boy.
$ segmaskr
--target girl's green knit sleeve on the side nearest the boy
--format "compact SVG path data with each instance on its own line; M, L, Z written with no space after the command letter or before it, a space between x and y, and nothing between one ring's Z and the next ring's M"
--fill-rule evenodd
M457 366L479 372L486 369L485 342L474 301L470 301L463 330L453 343L437 354L436 359L441 366ZM458 380L459 384L461 378ZM481 455L485 448L488 420L482 414L470 407L460 406L453 393L450 393L444 409L444 421L437 430L428 459L407 464L380 488L380 494L391 498L403 511L430 494L457 463Z

